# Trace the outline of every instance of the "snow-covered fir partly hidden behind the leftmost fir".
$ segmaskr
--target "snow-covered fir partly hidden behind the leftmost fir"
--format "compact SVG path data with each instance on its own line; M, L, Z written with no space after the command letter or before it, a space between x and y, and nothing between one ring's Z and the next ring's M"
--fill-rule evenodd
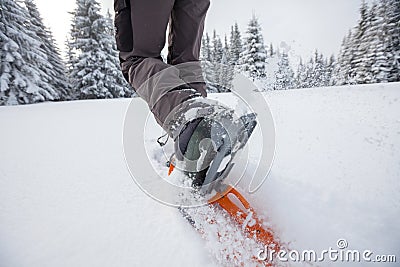
M33 0L25 0L25 6L30 16L30 29L40 38L41 48L44 50L51 65L51 68L45 67L43 71L50 77L50 85L59 92L60 100L67 100L69 98L70 85L65 65L61 59L60 51L55 45L52 33L44 25L35 2Z

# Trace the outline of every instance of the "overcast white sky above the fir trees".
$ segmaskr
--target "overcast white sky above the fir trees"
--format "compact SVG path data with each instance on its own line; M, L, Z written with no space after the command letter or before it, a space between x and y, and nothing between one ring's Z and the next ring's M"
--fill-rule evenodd
M143 0L146 1L146 0ZM103 11L113 11L112 0L100 0ZM75 0L36 0L61 49L70 29ZM211 0L206 31L221 35L237 21L242 33L255 13L266 44L285 42L292 53L309 56L316 48L326 56L337 54L341 41L359 17L361 0ZM157 7L155 7L157 8ZM223 37L223 36L221 36Z

